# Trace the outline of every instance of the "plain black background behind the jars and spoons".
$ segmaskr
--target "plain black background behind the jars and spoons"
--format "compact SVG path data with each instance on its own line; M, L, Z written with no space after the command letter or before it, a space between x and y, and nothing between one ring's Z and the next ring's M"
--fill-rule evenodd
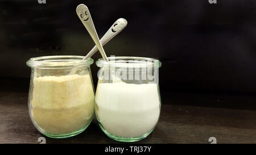
M93 48L93 40L75 12L77 5L85 3L100 38L118 18L128 21L104 46L108 56L150 57L162 62L162 98L166 92L172 92L166 97L182 98L182 92L199 101L202 93L229 94L234 101L229 105L238 107L243 104L239 96L255 99L255 0L217 0L217 4L208 0L46 2L0 1L2 91L28 91L26 61L31 57L86 55ZM101 55L92 58L96 61ZM95 63L91 68L96 87L98 68ZM222 100L224 96L213 102ZM193 101L200 103L204 104Z

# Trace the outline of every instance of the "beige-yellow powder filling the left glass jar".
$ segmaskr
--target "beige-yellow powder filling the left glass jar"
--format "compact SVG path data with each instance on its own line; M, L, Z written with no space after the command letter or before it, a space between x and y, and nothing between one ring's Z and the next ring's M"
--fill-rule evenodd
M69 134L84 127L94 113L89 75L43 76L34 79L32 119L44 132Z

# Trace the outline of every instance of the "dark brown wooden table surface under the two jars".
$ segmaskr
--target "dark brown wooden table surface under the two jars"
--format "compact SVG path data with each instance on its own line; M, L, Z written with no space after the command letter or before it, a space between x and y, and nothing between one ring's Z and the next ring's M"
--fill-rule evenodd
M162 101L155 130L136 143L209 143L209 137L216 137L217 143L256 143L255 110L164 102L168 101ZM38 138L43 136L28 115L27 92L0 92L0 121L0 143L39 143ZM79 135L67 139L46 137L46 143L119 142L106 136L94 119Z

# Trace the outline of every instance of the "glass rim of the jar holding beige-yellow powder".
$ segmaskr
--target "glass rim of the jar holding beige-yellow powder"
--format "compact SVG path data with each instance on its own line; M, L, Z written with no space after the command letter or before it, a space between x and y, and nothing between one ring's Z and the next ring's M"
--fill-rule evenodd
M73 68L89 66L93 63L92 58L83 60L84 56L79 55L51 55L30 58L27 66L32 68Z

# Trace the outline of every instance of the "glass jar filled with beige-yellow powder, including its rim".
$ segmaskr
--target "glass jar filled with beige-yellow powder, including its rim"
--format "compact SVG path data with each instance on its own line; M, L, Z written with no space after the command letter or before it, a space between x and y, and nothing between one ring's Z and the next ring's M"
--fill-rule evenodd
M53 138L80 134L94 115L94 87L90 64L81 56L31 58L28 110L34 126Z

